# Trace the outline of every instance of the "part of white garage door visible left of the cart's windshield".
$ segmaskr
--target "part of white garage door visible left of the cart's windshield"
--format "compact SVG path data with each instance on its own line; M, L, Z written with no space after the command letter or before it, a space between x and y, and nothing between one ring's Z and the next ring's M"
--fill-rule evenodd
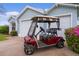
M31 21L22 21L20 25L20 36L24 37L28 34Z

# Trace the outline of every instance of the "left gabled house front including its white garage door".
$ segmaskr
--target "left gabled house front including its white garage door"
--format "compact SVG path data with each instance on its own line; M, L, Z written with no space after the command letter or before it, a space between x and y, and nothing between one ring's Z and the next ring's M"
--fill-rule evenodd
M19 23L18 25L18 36L26 36L28 29L29 29L29 25L31 25L31 21L29 21L32 17L37 16L37 15L42 15L36 11L33 11L31 9L27 9L26 12L24 12L24 14L22 14L22 16L17 20ZM29 23L30 22L30 23Z

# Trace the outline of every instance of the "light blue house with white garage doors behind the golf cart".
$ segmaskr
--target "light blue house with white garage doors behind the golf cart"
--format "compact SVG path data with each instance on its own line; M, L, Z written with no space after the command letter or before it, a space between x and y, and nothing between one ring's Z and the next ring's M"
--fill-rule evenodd
M79 19L79 5L76 4L55 4L53 7L48 10L43 10L39 8L33 8L30 6L26 6L21 13L14 18L15 20L15 28L18 32L18 36L24 37L27 35L31 18L39 15L47 15L47 16L56 16L60 19L60 28L61 31L58 31L58 35L64 37L64 30L70 27L74 27L78 23ZM9 23L12 24L12 18L9 18ZM55 26L52 24L52 26ZM10 32L12 31L12 25L9 25Z

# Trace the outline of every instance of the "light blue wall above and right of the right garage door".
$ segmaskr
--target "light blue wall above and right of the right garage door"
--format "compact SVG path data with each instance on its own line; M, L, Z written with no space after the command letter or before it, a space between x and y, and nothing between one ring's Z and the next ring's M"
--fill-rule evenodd
M77 25L77 9L65 6L59 6L55 9L51 10L48 15L49 16L63 16L63 15L71 15L71 27Z

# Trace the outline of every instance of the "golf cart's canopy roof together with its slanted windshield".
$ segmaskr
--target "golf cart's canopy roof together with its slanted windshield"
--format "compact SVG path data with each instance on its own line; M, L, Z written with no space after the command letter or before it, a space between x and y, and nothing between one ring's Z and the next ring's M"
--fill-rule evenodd
M39 16L39 17L33 17L32 19L32 23L31 23L31 26L30 26L30 29L29 29L29 32L28 32L28 35L29 36L33 36L35 35L35 31L36 31L36 28L38 27L38 23L44 23L44 24L48 24L48 29L51 27L51 23L56 23L56 29L59 29L59 19L56 18L56 17L48 17L48 16Z

